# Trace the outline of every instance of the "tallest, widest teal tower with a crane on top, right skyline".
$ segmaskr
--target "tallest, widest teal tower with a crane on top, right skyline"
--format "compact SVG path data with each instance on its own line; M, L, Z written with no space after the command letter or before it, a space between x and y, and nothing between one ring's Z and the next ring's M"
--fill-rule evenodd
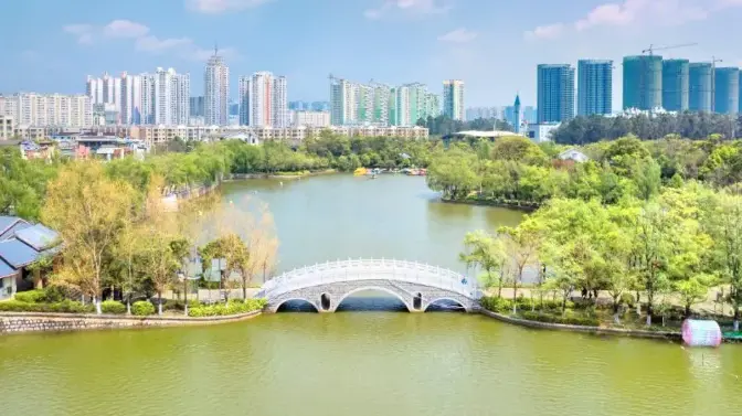
M662 57L624 57L624 109L651 110L662 107Z

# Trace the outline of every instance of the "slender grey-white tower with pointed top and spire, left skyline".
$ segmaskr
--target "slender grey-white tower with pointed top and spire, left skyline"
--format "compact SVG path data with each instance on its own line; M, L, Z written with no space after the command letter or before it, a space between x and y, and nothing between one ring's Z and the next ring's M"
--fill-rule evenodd
M208 125L226 126L230 121L230 67L214 50L204 72L204 118Z

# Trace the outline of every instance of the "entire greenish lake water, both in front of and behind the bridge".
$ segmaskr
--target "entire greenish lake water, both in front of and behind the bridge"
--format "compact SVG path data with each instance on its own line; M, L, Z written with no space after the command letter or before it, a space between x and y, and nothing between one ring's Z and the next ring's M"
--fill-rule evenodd
M280 267L363 256L460 269L467 231L507 210L435 202L421 178L231 183L275 215ZM742 345L536 331L399 312L378 294L333 314L200 328L0 337L0 415L739 415Z

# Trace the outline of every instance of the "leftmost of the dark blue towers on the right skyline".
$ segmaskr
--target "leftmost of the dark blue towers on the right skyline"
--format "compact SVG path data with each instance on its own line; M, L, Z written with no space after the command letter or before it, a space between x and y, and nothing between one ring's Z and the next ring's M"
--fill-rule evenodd
M541 64L537 72L537 121L561 122L574 118L574 67L569 64Z

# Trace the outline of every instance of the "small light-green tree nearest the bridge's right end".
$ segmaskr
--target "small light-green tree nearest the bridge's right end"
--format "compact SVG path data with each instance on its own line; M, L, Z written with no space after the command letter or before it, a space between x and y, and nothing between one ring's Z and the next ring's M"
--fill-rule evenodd
M459 254L459 259L467 267L478 266L486 273L485 287L489 289L497 282L497 297L502 297L502 266L505 253L502 243L496 236L483 231L467 233L464 238L465 253ZM496 274L499 269L499 276Z

